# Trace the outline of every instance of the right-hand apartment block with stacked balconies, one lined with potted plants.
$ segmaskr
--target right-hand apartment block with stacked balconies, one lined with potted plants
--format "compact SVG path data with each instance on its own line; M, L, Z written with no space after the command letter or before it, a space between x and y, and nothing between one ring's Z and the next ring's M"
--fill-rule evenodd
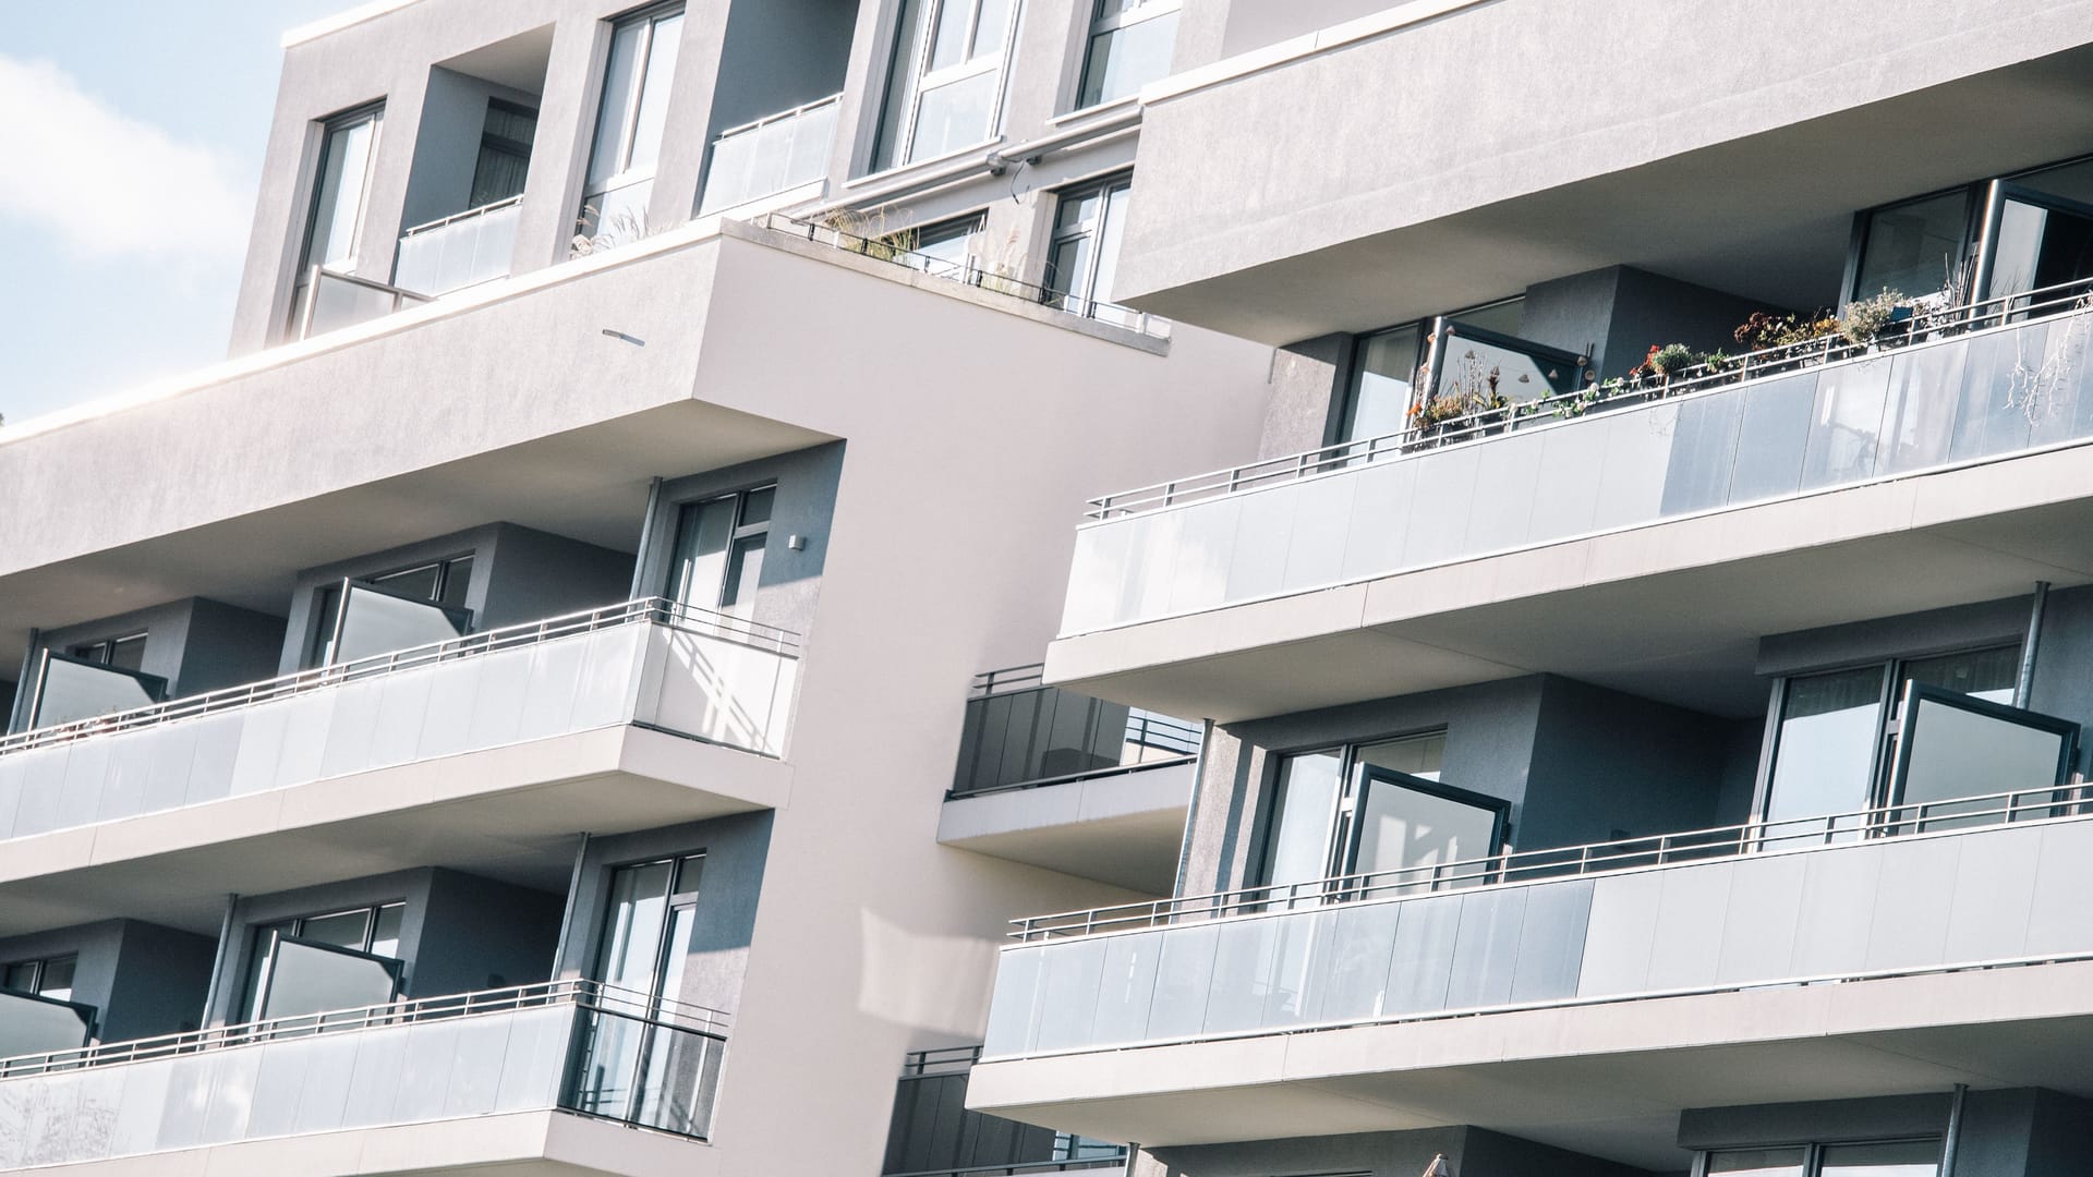
M1273 402L1099 488L1044 679L1212 727L969 1106L1143 1177L2093 1167L2093 8L1195 21L1113 289Z

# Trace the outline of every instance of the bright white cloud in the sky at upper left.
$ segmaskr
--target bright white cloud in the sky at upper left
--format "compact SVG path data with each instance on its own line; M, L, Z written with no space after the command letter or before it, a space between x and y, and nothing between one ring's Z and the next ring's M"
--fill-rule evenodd
M253 195L230 159L128 117L48 61L0 54L0 222L90 256L239 258Z

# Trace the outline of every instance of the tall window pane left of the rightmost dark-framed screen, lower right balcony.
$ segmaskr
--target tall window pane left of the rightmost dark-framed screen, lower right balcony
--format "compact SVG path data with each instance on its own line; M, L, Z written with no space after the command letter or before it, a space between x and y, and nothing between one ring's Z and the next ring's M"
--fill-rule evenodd
M1880 666L1867 666L1787 683L1766 821L1867 808L1882 737L1882 676Z

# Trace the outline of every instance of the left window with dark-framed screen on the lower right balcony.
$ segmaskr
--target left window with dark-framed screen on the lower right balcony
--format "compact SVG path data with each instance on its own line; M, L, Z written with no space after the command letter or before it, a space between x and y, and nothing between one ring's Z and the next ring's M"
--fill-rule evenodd
M1509 804L1440 783L1446 735L1285 756L1264 834L1266 886L1390 875L1371 894L1486 882L1442 869L1496 854ZM1304 888L1285 898L1321 898Z

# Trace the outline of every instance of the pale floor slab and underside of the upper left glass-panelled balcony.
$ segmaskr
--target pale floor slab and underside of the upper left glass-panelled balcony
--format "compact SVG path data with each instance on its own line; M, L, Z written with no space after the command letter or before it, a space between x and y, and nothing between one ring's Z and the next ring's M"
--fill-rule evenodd
M561 890L571 840L777 808L781 760L603 727L6 842L0 936L130 915L211 932L224 896L448 865Z

